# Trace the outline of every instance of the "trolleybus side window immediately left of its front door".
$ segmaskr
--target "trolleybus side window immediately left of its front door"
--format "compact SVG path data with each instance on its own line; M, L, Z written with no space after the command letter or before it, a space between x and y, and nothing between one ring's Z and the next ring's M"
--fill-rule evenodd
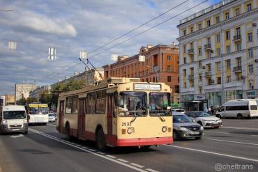
M105 114L106 112L106 91L96 92L96 114Z

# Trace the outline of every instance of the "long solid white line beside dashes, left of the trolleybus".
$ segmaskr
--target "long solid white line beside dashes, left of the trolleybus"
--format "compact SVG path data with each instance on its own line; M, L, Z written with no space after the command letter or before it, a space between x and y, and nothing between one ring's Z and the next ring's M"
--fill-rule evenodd
M126 164L125 162L120 162L118 159L112 159L111 157L107 157L107 156L105 156L105 155L100 155L100 154L98 154L98 153L95 153L95 152L91 151L90 149L84 149L84 148L82 148L82 147L75 146L75 145L73 145L73 144L71 144L71 143L66 143L65 141L61 141L61 140L59 140L59 139L56 139L54 136L50 136L49 134L45 134L45 133L40 132L40 131L38 131L38 130L33 130L33 129L31 129L31 128L29 128L29 130L30 130L31 132L35 132L35 133L37 133L37 134L40 134L40 135L45 136L45 137L47 137L47 138L50 138L50 139L52 139L52 140L55 140L55 141L58 141L58 142L60 142L60 143L66 144L66 145L68 145L68 146L71 146L71 147L73 147L73 148L77 148L77 149L79 149L79 150L83 150L83 151L86 152L86 153L91 153L92 155L96 155L96 156L98 156L98 157L102 157L102 158L107 159L107 160L109 160L109 161L111 161L111 162L115 162L116 164L120 164L120 165L126 166L126 167L128 167L128 168L130 168L130 169L134 169L135 171L146 172L144 169L139 169L139 168L137 168L136 166L132 166L132 165L130 165L130 164ZM95 151L96 151L96 150L95 150ZM146 170L147 170L147 169L146 169Z

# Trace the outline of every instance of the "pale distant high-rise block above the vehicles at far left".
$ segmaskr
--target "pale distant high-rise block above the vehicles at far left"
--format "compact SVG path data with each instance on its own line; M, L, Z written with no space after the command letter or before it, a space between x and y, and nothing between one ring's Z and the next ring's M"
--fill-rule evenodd
M15 104L19 100L29 97L29 92L35 90L37 88L37 85L35 83L28 84L28 83L22 83L22 84L15 84Z

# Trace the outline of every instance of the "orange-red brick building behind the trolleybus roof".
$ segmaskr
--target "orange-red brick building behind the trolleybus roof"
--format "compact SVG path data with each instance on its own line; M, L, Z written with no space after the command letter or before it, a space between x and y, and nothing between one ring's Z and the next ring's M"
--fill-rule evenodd
M139 61L139 56L145 61ZM118 61L105 65L104 76L136 77L141 81L164 82L172 88L173 101L179 102L179 47L174 45L147 45L135 56L119 56Z

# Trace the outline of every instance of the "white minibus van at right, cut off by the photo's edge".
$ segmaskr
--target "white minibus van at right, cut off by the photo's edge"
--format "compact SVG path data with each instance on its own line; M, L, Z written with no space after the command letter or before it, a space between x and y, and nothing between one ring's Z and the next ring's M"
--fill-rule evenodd
M250 99L230 100L217 112L218 118L253 118L258 117L257 102Z

